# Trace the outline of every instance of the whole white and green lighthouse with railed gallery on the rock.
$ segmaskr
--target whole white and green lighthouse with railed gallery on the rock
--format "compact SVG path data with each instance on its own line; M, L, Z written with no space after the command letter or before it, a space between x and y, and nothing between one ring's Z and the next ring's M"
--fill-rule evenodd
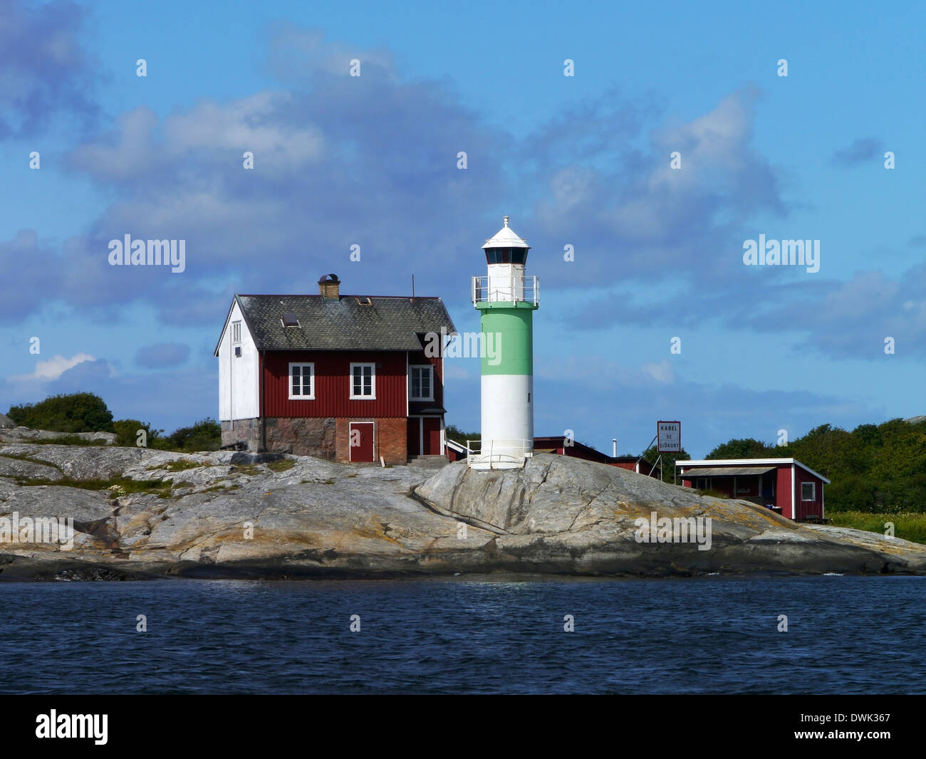
M526 277L527 241L508 226L482 245L488 272L472 278L481 315L482 444L473 469L514 469L533 455L533 312L540 283Z

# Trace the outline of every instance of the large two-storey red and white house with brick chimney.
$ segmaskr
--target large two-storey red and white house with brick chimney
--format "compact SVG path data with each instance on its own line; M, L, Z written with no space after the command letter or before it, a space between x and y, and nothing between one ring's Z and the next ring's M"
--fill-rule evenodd
M219 358L222 445L342 462L444 455L440 298L234 296Z

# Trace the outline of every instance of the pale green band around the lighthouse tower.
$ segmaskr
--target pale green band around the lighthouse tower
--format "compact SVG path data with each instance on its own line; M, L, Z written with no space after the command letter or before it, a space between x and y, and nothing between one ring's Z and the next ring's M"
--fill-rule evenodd
M531 303L479 303L482 312L482 374L533 374Z

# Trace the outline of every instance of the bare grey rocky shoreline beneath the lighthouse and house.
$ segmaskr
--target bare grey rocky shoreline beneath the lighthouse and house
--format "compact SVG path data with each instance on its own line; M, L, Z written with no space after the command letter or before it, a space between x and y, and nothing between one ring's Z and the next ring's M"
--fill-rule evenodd
M73 547L7 535L0 580L926 574L918 543L551 454L473 472L5 438L0 535L14 514L72 518ZM656 516L709 517L709 547L637 541Z

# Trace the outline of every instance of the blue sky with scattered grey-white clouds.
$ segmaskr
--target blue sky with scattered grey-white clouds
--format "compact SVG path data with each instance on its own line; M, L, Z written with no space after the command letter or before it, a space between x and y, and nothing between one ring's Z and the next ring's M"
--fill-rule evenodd
M678 418L698 456L926 413L926 12L752 5L0 0L0 408L216 417L232 293L332 271L414 273L478 330L508 214L542 281L537 434L639 452ZM108 266L127 233L186 240L186 270ZM759 234L819 240L820 270L745 266ZM476 360L447 391L477 429Z

